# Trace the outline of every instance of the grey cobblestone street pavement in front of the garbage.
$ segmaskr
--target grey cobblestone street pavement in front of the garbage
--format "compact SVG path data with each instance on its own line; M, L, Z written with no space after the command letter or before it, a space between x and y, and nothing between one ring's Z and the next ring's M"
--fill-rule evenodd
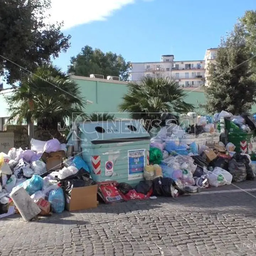
M237 190L251 188L251 192ZM208 194L100 204L25 223L0 220L0 256L256 255L256 181ZM228 192L228 193L227 193Z

